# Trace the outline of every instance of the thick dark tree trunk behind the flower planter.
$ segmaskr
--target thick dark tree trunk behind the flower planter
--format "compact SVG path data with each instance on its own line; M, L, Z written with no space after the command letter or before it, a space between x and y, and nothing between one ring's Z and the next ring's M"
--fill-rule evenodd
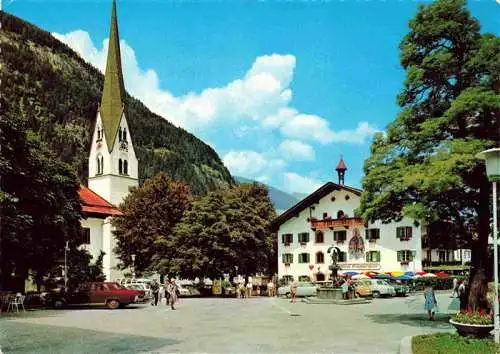
M472 243L472 264L467 287L467 308L473 310L486 309L490 305L487 300L488 278L491 275L491 262L488 252L488 236L490 233L490 197L489 183L480 187L478 207L478 239Z

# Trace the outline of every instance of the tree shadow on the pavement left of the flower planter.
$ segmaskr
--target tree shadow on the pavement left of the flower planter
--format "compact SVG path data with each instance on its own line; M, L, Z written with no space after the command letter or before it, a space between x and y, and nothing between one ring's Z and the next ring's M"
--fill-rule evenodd
M372 314L365 315L374 323L401 323L407 326L435 329L453 329L453 326L448 322L450 316L448 314L436 314L434 321L429 321L427 314Z

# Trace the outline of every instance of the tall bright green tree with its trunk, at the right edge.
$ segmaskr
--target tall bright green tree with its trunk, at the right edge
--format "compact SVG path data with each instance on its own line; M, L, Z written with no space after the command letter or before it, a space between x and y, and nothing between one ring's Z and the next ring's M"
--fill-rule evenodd
M468 239L469 303L484 308L490 185L475 154L500 141L500 39L481 35L463 0L421 5L409 26L402 110L374 139L360 210L372 221L424 220L431 239Z

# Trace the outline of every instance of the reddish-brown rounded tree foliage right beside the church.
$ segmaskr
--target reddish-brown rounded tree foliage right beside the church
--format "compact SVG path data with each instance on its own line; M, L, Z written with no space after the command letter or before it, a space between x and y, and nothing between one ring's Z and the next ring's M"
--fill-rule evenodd
M123 215L113 219L116 251L123 267L132 266L133 254L138 272L150 269L155 260L171 259L169 239L191 201L189 187L165 173L133 188L120 205Z

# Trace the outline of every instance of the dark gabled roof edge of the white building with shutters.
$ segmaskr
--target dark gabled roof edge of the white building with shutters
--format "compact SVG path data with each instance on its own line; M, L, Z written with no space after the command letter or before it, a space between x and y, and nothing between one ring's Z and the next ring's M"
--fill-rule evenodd
M317 190L309 194L307 197L302 199L300 202L295 204L293 207L285 211L283 214L278 216L271 222L271 229L277 231L281 224L285 223L292 217L298 216L301 211L310 207L313 204L316 204L320 201L321 198L327 196L333 191L346 190L355 195L361 195L363 192L361 189L348 187L341 184L327 182L323 186L319 187Z

